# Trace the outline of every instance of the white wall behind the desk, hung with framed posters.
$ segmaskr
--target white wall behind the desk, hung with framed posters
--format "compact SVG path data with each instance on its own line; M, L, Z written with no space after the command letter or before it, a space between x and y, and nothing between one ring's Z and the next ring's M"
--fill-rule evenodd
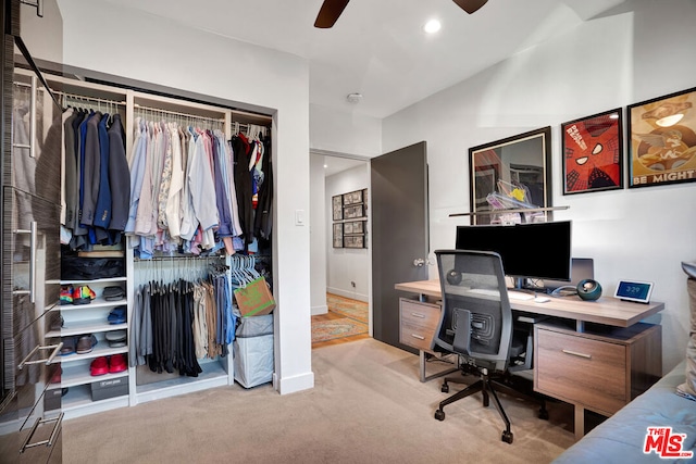
M573 221L573 254L595 259L595 277L612 293L621 278L655 281L663 369L684 356L686 276L696 259L696 183L563 196L559 124L694 87L696 2L639 0L635 14L582 24L383 123L383 150L427 140L431 249L453 246L469 211L468 149L552 127L555 213ZM561 8L561 7L559 7ZM658 33L659 32L659 33ZM431 268L431 276L435 269Z

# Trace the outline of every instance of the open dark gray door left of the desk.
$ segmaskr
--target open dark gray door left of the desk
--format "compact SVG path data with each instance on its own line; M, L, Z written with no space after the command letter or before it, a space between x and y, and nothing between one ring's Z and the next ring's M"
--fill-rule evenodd
M411 352L399 343L399 294L394 285L427 279L427 158L422 141L371 164L372 317L374 338Z

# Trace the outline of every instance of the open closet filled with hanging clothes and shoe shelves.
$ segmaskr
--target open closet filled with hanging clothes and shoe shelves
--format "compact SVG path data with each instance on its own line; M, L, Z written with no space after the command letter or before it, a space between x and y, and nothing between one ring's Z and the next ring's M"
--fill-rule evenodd
M61 404L70 418L233 385L239 317L234 289L259 276L273 291L272 117L104 83L46 78L67 109L62 304L46 334L64 347L61 373L46 397L60 396L61 402L47 407ZM100 120L92 123L101 143L98 166L84 153L90 134L79 121L90 116ZM104 146L111 159L103 158ZM113 174L113 156L121 155L128 178L110 178L104 164ZM80 209L95 178L101 190L110 180L109 214L99 208L97 189L95 208ZM125 196L117 191L124 184ZM116 206L119 198L127 204ZM87 216L94 225L85 226ZM80 278L80 260L108 269L99 278ZM87 301L76 302L77 296ZM100 360L108 363L101 369L95 367Z

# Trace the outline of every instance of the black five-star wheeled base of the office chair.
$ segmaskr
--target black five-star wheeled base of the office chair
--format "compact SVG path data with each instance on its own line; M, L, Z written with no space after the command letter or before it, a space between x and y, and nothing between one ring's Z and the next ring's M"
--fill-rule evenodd
M463 379L461 377L445 377L444 381L443 381L443 386L442 386L442 391L443 392L448 392L449 391L449 383L453 381L453 383L460 383ZM502 430L502 434L500 436L500 439L502 441L505 441L506 443L512 443L513 440L513 434L510 430L510 419L508 418L508 415L506 414L505 410L502 409L502 404L500 403L500 400L498 399L498 394L496 393L497 391L500 391L502 393L507 393L507 394L512 394L512 396L517 396L517 397L523 397L530 400L534 400L534 401L538 401L540 403L540 407L539 407L539 413L538 413L538 417L542 419L548 419L548 411L546 410L546 400L544 398L538 398L536 396L532 396L532 394L526 394L523 393L519 390L515 390L514 388L512 388L510 385L508 385L507 383L511 381L511 377L510 376L500 376L500 377L496 377L493 378L490 377L490 375L488 374L481 374L481 377L478 380L476 380L474 384L468 386L467 388L464 388L463 390L452 394L449 398L446 398L445 400L440 401L439 403L439 407L437 409L437 411L435 411L435 418L438 421L445 421L445 411L444 407L447 404L453 403L455 401L461 400L462 398L467 398L470 397L474 393L481 392L483 394L483 405L484 407L488 407L488 405L490 404L490 397L493 397L494 399L494 406L496 407L496 410L498 411L498 414L500 415L500 417L502 418L502 422L505 423L505 430ZM495 388L494 388L495 387Z

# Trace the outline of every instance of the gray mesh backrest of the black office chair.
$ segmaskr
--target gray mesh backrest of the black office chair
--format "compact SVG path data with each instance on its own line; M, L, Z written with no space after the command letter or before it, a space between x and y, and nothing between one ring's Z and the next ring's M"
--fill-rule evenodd
M512 339L512 311L498 253L437 250L443 311L433 337L469 364L505 371Z

